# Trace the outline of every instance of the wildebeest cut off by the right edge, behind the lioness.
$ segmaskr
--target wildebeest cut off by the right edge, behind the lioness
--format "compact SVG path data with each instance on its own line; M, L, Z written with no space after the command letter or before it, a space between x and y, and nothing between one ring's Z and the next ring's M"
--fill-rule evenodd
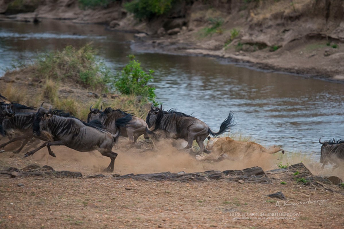
M333 170L338 168L340 164L344 164L344 140L332 139L330 141L321 142L320 138L319 143L322 145L320 149L320 163L323 164L321 169L329 162L335 164Z

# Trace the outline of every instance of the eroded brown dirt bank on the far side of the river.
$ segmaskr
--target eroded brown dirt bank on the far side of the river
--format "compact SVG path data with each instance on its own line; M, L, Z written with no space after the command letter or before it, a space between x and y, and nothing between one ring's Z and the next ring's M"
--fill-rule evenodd
M43 1L34 12L3 20L37 17L101 23L110 30L141 32L132 46L137 50L216 56L262 69L344 80L343 1L190 1L176 4L168 15L142 22L123 9L123 2L81 10L76 0ZM223 23L205 35L212 27L209 19ZM234 29L239 32L236 36Z

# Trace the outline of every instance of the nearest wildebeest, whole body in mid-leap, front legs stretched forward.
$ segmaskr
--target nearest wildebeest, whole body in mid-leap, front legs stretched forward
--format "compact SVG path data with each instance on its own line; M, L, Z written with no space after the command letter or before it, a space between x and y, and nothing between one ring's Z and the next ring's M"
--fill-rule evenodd
M130 120L130 116L119 118L116 120L116 126L125 126ZM98 120L85 123L75 117L54 115L45 108L40 107L34 118L33 134L40 136L43 133L49 140L37 149L27 152L25 157L31 156L45 146L53 157L56 156L50 146L67 146L80 152L98 150L101 155L111 159L106 171L113 172L118 154L112 152L112 147L117 141L119 130L113 135L100 128L100 126L102 125Z

